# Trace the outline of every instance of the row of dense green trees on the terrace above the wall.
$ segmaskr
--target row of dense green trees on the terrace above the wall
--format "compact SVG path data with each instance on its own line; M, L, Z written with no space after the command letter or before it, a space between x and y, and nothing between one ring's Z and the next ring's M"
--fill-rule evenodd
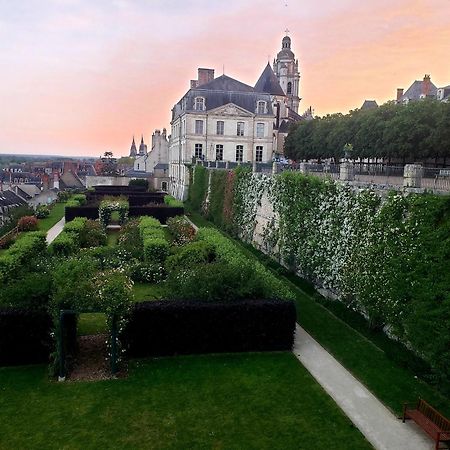
M400 159L402 162L450 159L450 103L436 100L331 114L294 125L285 155L295 161L344 157Z

